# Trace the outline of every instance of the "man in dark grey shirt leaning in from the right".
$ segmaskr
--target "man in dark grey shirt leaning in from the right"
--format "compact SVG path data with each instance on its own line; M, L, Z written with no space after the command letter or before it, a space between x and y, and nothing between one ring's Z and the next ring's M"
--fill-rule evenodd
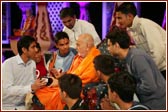
M118 27L107 34L107 39L109 52L124 59L129 73L135 77L140 102L153 110L166 109L166 81L152 57L141 49L130 48L129 35Z

